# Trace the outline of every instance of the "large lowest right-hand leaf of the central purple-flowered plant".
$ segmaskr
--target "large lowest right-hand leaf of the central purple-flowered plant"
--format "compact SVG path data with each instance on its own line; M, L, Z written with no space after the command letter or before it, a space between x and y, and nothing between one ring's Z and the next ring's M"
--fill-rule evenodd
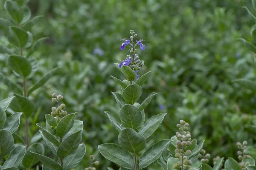
M152 164L163 155L171 140L161 140L151 145L141 156L139 161L139 170Z

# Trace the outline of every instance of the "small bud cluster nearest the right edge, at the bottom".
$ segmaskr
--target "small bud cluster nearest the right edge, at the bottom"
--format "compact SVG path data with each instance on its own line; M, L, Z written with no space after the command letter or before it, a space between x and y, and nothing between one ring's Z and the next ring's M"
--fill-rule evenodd
M242 144L240 142L236 143L236 146L239 148L239 151L237 152L238 159L241 161L239 162L242 170L247 170L246 167L250 166L249 161L245 161L245 159L250 159L250 155L244 154L244 150L247 148L247 141L244 141Z

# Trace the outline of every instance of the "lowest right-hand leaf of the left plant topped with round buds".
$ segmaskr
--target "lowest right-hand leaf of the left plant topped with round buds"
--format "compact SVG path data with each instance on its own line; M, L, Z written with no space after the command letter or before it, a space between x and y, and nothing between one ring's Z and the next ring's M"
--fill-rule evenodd
M83 159L86 151L84 144L79 144L79 147L63 160L63 169L71 170L76 167L79 162Z

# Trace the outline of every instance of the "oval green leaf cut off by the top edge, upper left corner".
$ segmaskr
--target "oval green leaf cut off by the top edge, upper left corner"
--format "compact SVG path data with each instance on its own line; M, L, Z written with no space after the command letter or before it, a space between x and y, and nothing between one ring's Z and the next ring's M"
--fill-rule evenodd
M16 23L20 23L23 19L24 13L20 6L12 0L7 0L4 3L4 8L7 13L12 17L12 20Z

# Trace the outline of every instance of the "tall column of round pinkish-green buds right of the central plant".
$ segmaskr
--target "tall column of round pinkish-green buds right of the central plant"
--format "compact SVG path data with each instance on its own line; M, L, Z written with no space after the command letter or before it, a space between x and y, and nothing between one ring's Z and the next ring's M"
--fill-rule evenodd
M188 159L191 155L191 150L185 150L187 146L191 145L191 133L188 131L189 124L184 120L180 120L177 124L180 132L176 132L177 142L175 149L175 157L179 159L177 163L174 164L175 170L192 170L192 161Z

